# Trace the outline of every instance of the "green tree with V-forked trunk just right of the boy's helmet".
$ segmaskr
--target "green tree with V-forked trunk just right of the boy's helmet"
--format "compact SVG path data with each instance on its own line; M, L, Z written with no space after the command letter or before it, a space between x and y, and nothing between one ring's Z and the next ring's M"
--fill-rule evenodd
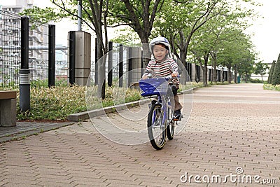
M225 1L191 1L188 4L169 1L158 15L155 34L169 39L176 57L186 67L190 39L202 25L222 13ZM186 78L183 78L185 80Z

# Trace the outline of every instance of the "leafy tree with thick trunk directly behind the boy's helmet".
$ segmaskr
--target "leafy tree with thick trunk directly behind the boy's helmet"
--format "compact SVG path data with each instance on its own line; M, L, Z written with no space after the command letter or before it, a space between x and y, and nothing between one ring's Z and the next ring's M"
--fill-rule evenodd
M160 12L165 0L113 0L110 4L111 27L127 25L137 32L143 43L143 62L148 64L151 53L148 49L148 39L153 29L155 15Z

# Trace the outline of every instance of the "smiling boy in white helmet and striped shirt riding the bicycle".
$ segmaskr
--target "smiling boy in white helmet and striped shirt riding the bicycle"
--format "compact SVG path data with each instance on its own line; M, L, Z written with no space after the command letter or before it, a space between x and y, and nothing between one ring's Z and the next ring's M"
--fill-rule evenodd
M149 43L149 48L155 60L151 60L146 71L142 76L142 79L148 78L148 74L152 72L152 76L155 77L166 77L172 76L177 77L179 75L179 67L176 62L169 57L170 44L165 37L157 37ZM175 109L174 109L174 120L181 118L181 109L183 106L179 102L177 90L179 88L179 81L173 79L174 84L171 85L172 92L174 95Z

